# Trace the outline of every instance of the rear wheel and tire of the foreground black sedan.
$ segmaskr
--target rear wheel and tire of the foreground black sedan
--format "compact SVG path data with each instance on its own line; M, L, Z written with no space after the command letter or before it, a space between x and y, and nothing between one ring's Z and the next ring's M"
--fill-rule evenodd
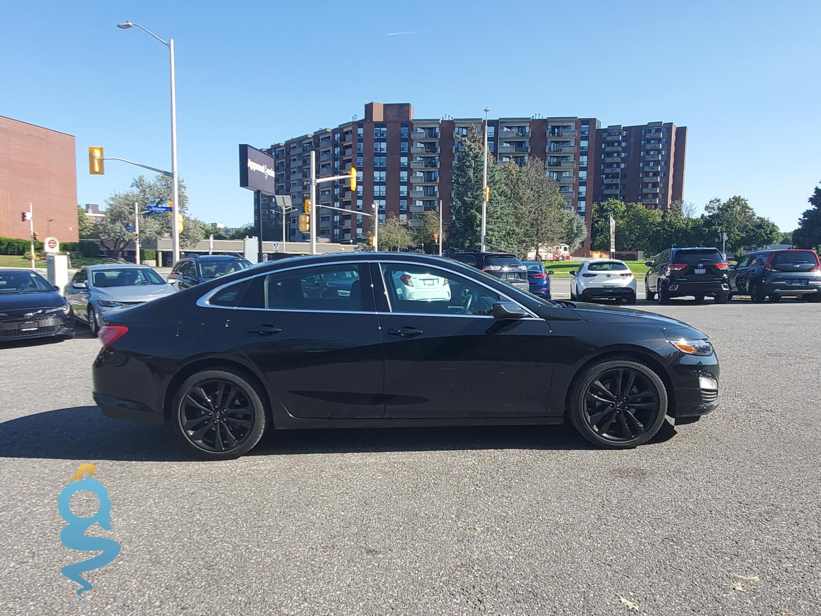
M262 438L268 424L264 400L259 385L239 371L225 368L196 372L174 393L172 431L190 453L206 460L232 460L250 452ZM221 410L222 404L226 407ZM213 417L221 417L222 421Z

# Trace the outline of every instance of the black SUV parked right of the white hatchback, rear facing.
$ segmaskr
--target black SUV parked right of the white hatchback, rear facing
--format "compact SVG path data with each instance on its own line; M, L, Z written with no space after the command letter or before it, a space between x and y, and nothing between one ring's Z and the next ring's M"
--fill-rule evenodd
M702 301L705 295L712 295L717 304L730 299L729 266L718 248L671 248L646 265L649 270L644 275L644 292L648 301L657 295L660 304L683 296Z

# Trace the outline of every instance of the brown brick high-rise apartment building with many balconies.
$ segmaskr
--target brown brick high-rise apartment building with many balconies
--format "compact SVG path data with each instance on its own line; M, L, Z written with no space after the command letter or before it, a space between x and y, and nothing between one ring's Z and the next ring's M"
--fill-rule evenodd
M304 212L303 204L309 198L312 149L316 151L318 177L339 175L351 166L359 176L355 194L342 182L317 187L317 204L329 206L317 210L319 241L353 243L368 237L367 216L334 208L369 213L376 204L381 220L397 214L415 226L424 211L438 209L441 200L447 220L451 215L453 163L461 151L462 138L471 128L481 133L482 118L415 118L410 103L368 103L361 120L271 145L264 151L277 160L277 195L291 195L296 206L284 217L287 239L309 239L307 233L298 231L297 216ZM620 136L625 133L623 139L612 139L610 135L616 132ZM590 205L610 198L613 190L617 190L617 198L662 209L681 199L685 144L686 128L661 122L603 129L593 117L488 120L488 149L493 156L500 163L524 164L530 157L543 160L545 172L557 182L566 206L585 220L588 229ZM613 163L615 167L610 166ZM282 237L282 211L273 205L273 197L257 193L255 199L260 198L263 225L272 228L273 237L278 239ZM255 216L260 211L257 205ZM587 252L589 241L577 254Z

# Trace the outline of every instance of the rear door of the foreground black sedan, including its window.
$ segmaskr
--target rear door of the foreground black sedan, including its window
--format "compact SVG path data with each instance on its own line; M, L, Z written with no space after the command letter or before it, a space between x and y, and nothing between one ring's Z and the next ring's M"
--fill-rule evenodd
M260 275L229 313L237 347L291 416L384 415L382 338L367 271L334 264Z

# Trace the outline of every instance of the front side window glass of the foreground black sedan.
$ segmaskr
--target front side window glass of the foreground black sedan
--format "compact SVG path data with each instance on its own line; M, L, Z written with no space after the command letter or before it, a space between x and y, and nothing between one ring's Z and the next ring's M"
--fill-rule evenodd
M391 312L488 316L502 297L459 274L420 264L381 264Z

